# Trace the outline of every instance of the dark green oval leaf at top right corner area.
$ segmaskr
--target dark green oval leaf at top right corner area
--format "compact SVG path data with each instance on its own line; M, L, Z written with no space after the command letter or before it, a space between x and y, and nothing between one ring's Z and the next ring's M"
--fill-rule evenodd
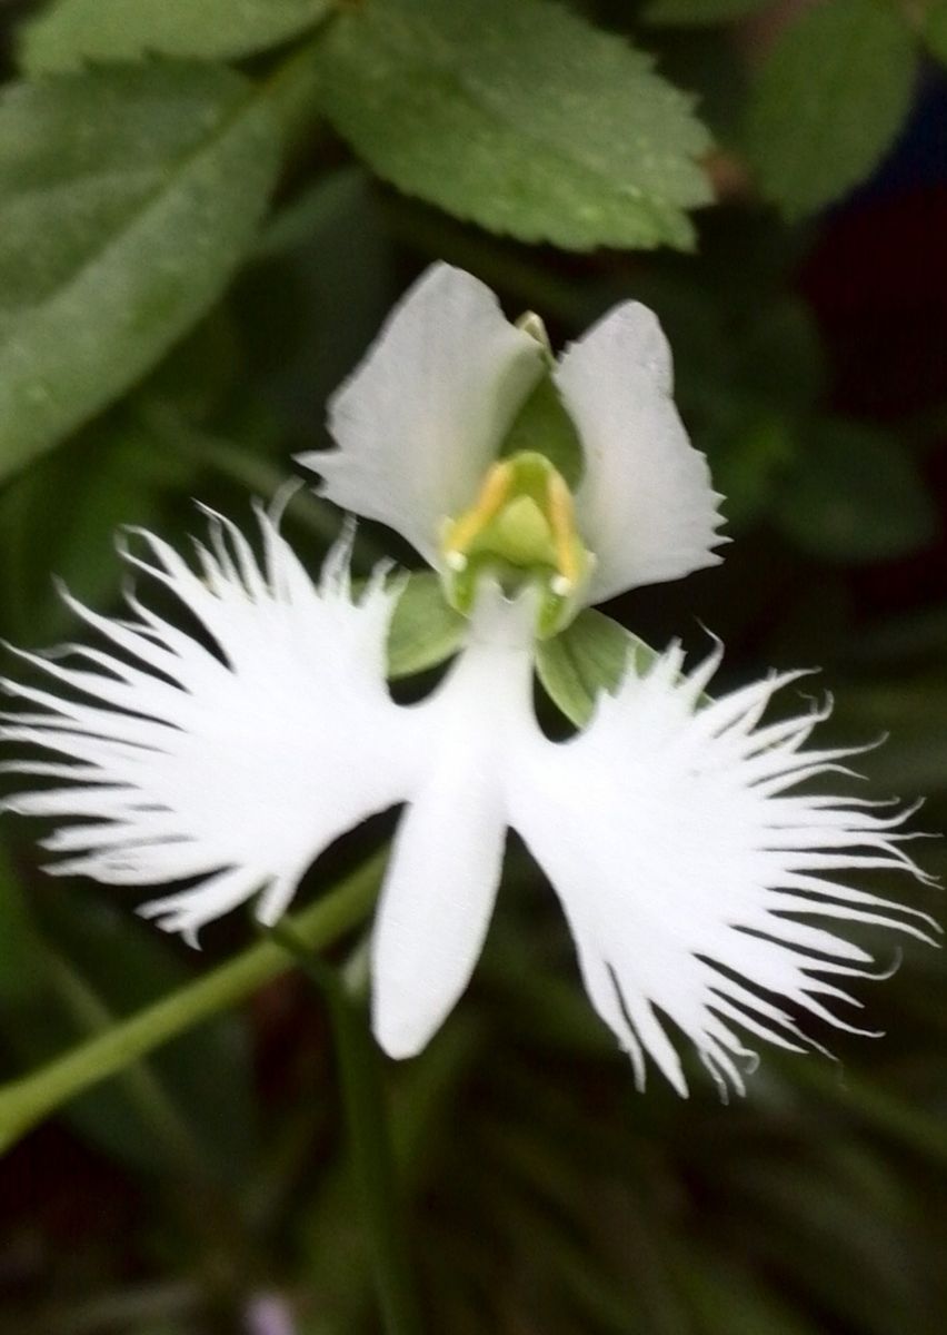
M747 151L788 218L863 180L907 115L915 45L898 5L832 0L782 35L752 92Z

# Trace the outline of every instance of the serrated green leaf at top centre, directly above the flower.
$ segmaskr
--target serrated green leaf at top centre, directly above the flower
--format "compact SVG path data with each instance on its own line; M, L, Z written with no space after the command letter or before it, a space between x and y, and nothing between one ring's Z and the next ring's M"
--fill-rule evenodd
M651 59L546 0L364 0L323 100L400 190L527 242L688 247L708 135Z

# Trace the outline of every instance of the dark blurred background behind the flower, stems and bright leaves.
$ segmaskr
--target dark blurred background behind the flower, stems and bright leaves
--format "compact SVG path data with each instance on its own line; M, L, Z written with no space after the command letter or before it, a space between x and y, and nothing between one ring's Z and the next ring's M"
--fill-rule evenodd
M28 5L5 7L11 21ZM627 7L590 5L614 27ZM823 668L828 736L863 742L866 792L947 817L947 80L918 69L910 121L872 179L788 226L756 198L732 125L768 40L655 32L660 68L696 89L719 140L720 202L694 255L564 255L491 238L372 180L328 132L281 186L301 222L131 396L0 491L0 633L68 633L49 575L117 598L112 530L193 527L191 498L240 519L248 494L321 443L325 395L432 259L535 308L555 343L611 303L648 302L678 366L734 543L726 563L608 610L662 645L727 643L728 681ZM168 407L171 406L171 407ZM173 417L177 414L177 418ZM177 431L175 422L185 422ZM171 423L171 425L169 425ZM203 443L201 443L203 442ZM296 507L313 567L335 521ZM399 555L408 555L383 541ZM372 825L301 892L352 864ZM121 1015L251 937L205 933L204 957L96 885L45 880L4 818L4 876L31 930L105 1015ZM923 865L947 869L943 845ZM863 984L870 1040L836 1064L766 1053L750 1095L644 1096L588 1008L548 888L522 850L469 995L431 1049L385 1067L429 1330L444 1335L935 1335L947 1319L943 955L907 941ZM882 881L878 881L882 885ZM874 886L872 886L874 888ZM904 893L899 884L892 886ZM912 902L942 913L938 892ZM890 941L882 961L895 963ZM12 945L9 943L13 943ZM0 943L3 1069L80 1037L60 987L17 987ZM79 980L79 983L76 983ZM61 981L61 980L60 980ZM181 1153L112 1081L29 1135L0 1168L0 1331L16 1335L357 1335L380 1328L319 992L291 976L151 1064L189 1125ZM276 1295L263 1303L261 1295ZM284 1324L280 1324L284 1323Z

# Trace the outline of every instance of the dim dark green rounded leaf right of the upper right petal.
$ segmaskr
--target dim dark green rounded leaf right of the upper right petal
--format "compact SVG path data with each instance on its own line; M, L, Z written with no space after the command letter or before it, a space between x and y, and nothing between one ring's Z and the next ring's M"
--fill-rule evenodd
M891 561L936 537L936 509L896 438L842 419L814 423L775 518L823 561Z

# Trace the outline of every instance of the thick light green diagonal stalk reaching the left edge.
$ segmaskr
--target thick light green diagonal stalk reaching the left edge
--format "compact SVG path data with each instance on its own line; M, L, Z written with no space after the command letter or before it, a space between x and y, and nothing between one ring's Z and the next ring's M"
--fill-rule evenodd
M325 949L363 921L377 894L385 860L387 849L383 849L311 908L295 914L293 933L308 951ZM201 1020L243 1001L264 983L285 973L293 963L275 940L259 941L203 979L145 1007L35 1073L7 1084L0 1089L0 1153L60 1104L117 1075Z

